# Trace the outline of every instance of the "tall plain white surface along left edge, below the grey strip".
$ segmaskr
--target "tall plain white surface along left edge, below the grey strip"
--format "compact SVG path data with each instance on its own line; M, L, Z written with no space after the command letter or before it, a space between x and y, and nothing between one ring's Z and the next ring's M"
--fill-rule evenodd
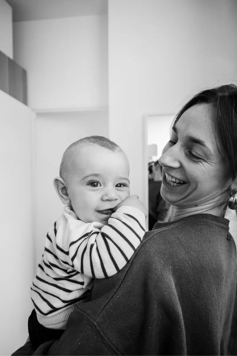
M32 310L32 115L0 90L0 355L25 342Z

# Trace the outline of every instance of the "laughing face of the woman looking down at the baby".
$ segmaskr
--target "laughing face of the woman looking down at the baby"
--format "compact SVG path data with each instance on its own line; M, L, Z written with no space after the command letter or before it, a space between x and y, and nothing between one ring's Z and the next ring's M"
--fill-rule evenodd
M202 103L186 110L173 126L171 139L162 151L161 195L171 205L190 208L223 199L227 167L212 131L210 109L209 104Z

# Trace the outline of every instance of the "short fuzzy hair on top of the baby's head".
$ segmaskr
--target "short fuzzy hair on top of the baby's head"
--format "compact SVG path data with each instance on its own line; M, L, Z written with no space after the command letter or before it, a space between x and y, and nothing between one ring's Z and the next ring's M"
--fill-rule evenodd
M59 176L63 179L65 179L65 174L68 173L68 167L66 165L66 162L71 156L73 148L78 145L98 145L101 147L105 147L111 151L122 151L121 147L119 147L115 142L109 140L109 138L104 136L87 136L80 138L80 140L71 143L71 145L68 146L68 148L63 154L59 168Z

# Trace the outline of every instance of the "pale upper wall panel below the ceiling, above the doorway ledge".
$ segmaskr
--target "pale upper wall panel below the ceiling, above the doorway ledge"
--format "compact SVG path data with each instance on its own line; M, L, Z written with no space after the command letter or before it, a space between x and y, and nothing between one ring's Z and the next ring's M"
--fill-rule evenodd
M108 106L107 16L14 23L14 58L34 109Z

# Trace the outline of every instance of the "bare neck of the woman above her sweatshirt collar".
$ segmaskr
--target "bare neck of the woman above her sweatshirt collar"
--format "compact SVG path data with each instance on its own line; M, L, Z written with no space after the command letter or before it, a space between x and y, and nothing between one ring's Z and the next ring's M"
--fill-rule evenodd
M194 214L212 214L216 216L222 216L223 209L225 208L226 202L205 203L203 205L191 206L190 208L178 208L177 206L171 205L168 210L166 221L175 221L187 216Z

